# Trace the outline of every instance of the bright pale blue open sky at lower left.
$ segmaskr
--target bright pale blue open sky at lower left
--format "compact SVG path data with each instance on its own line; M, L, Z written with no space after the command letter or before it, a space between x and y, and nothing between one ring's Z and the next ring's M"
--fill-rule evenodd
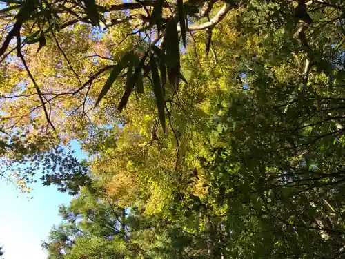
M77 142L71 142L75 156L86 158ZM59 204L72 198L55 186L32 184L32 200L18 194L14 185L0 180L0 245L5 259L46 259L41 241L46 239L53 224L59 224ZM18 198L17 198L18 196Z

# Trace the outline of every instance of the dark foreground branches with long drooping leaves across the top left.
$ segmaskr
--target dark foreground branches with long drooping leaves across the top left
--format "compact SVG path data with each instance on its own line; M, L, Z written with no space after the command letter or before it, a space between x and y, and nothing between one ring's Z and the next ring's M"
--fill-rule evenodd
M108 93L110 87L114 84L115 79L119 77L121 71L126 68L126 83L125 92L121 97L118 109L121 111L128 101L128 97L132 90L137 90L137 93L143 93L142 77L148 77L149 73L152 75L153 90L157 100L157 108L159 119L162 126L165 126L164 117L164 88L166 84L166 77L170 84L177 90L179 86L180 77L184 77L180 73L180 50L179 37L181 37L184 46L186 46L187 36L186 32L195 30L212 30L217 23L224 19L226 13L231 8L237 8L237 1L234 3L224 3L224 6L218 11L217 15L206 23L195 26L187 26L190 19L202 20L208 17L208 14L213 10L213 1L182 1L177 3L164 1L139 1L138 3L115 3L110 4L108 1L101 1L97 3L95 0L88 1L46 1L46 0L28 0L28 1L2 1L8 7L1 10L3 21L3 32L6 37L3 39L0 48L0 57L3 66L13 64L13 61L8 61L12 56L14 50L17 50L17 59L19 66L26 72L25 84L32 85L32 90L35 91L35 99L39 101L40 113L46 118L48 126L52 130L57 130L56 124L52 121L52 100L60 95L76 95L81 90L86 89L86 97L88 97L93 81L99 78L100 75L108 70L111 73L103 85L101 92L97 97L95 106ZM199 11L199 7L204 6ZM219 8L216 8L219 9ZM143 15L143 12L145 15ZM120 41L120 44L130 35L137 35L135 37L137 42L130 44L130 51L124 54L117 64L110 64L101 67L93 75L89 75L87 81L83 81L85 73L82 73L70 61L68 51L63 50L63 45L66 44L66 39L62 41L59 35L68 33L70 26L80 26L88 30L98 31L99 35L106 35L110 30L120 25L126 27L126 37ZM133 32L133 30L135 32ZM157 32L157 36L152 39L151 30ZM50 41L54 43L59 50L59 54L67 62L70 72L73 77L77 79L79 86L75 90L68 92L61 92L57 94L54 91L45 93L39 86L40 78L30 68L28 62L33 57L39 55L39 51L46 46L50 46ZM65 41L65 42L64 42ZM33 51L32 44L39 44L37 51ZM157 47L159 43L160 48ZM142 47L144 46L144 50ZM118 47L118 46L117 46ZM140 48L138 48L140 47ZM8 49L10 49L8 51ZM138 60L134 52L142 51L141 59ZM85 50L84 50L85 51ZM96 55L102 57L101 55ZM108 57L109 60L113 60ZM148 61L146 62L146 59ZM158 61L158 64L157 62ZM55 63L56 66L61 65L61 59ZM158 68L161 73L159 75ZM18 68L18 67L17 67ZM83 69L85 71L85 69ZM44 77L44 76L43 76ZM16 81L16 84L23 83L23 78ZM28 90L28 88L24 88ZM53 97L51 97L53 95ZM54 96L55 95L55 96ZM32 96L32 95L30 95ZM49 96L49 97L48 97ZM47 98L48 97L48 98ZM11 97L7 97L11 98ZM85 113L85 103L83 102L83 113ZM80 108L80 107L79 107ZM32 113L32 111L30 111Z

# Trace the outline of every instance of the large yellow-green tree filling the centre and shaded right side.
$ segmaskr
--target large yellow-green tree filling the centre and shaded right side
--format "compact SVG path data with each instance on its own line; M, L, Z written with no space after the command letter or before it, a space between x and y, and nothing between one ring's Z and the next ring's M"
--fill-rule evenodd
M170 134L157 134L147 97L128 104L126 123L89 138L106 197L153 219L158 258L344 255L344 50L324 48L339 39L325 39L336 34L323 23L326 32L313 38L322 59L311 65L300 39L256 20L268 7L246 10L250 26L237 32L225 33L239 17L224 19L213 37L225 46L211 57L201 56L206 46L195 35L181 63L188 85L178 99L166 96L175 104Z

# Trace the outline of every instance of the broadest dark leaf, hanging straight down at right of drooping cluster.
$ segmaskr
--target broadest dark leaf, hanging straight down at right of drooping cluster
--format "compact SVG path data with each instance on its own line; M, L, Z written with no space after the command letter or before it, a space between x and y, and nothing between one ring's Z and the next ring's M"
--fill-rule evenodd
M180 60L179 33L175 21L170 21L168 28L166 28L166 58L171 62L170 67L168 67L168 79L170 84L177 90L179 88Z

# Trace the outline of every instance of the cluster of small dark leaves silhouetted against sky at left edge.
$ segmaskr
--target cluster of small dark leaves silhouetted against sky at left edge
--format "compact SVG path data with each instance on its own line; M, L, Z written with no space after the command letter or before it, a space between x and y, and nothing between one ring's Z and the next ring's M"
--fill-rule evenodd
M19 193L31 193L31 185L37 182L37 174L40 175L43 185L54 184L59 191L68 192L70 195L77 195L81 186L90 185L91 176L87 162L77 160L72 152L67 152L64 148L22 153L20 157L16 152L15 155L15 158L1 159L0 177L14 183Z

